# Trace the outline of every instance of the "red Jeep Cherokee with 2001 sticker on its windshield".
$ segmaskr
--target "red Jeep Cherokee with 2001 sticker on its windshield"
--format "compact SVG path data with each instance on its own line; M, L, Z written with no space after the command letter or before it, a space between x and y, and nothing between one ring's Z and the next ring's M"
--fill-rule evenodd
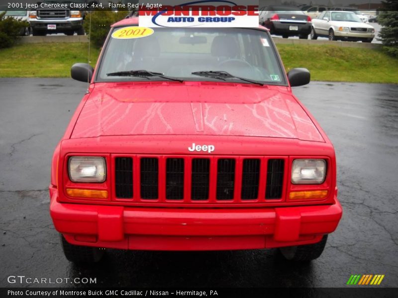
M279 247L320 256L342 209L325 133L293 95L264 27L114 24L52 160L66 257L104 250Z

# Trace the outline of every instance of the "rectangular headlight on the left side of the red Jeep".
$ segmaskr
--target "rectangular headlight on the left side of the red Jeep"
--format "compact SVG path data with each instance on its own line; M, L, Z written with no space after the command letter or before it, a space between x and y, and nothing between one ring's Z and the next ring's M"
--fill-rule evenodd
M103 182L106 162L103 157L74 156L69 158L69 177L73 182Z

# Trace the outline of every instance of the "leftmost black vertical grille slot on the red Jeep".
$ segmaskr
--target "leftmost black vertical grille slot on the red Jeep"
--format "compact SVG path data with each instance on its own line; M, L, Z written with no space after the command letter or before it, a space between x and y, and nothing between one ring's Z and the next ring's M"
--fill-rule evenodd
M115 158L116 197L131 199L133 197L133 159L131 157Z

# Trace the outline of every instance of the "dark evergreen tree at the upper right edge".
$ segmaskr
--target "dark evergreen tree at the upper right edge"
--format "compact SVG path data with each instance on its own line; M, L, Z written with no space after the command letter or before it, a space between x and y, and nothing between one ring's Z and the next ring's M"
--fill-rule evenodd
M379 35L384 49L398 57L398 1L386 0L383 4L384 9L378 17L379 24L383 26Z

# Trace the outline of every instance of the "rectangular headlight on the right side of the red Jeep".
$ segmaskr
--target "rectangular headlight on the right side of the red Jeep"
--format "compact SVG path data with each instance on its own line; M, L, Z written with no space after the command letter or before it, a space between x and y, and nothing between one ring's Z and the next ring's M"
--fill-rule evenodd
M292 166L293 184L321 184L325 180L324 159L295 159Z

